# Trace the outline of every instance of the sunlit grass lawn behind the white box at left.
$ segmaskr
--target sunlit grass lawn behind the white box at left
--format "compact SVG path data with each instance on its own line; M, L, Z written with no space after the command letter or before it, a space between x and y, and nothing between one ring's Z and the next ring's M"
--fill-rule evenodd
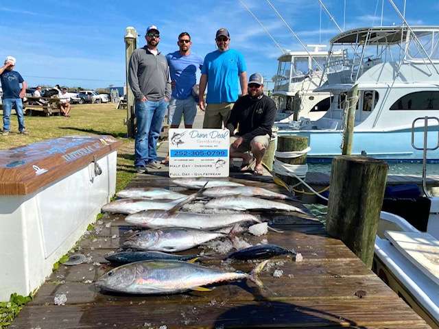
M3 115L3 112L1 112ZM0 149L10 149L46 139L73 135L111 135L123 140L123 147L117 152L116 191L124 188L135 175L134 154L130 151L134 140L126 138L126 109L117 110L116 103L74 105L71 117L29 117L25 116L25 127L29 135L19 134L19 123L12 110L9 136L1 136ZM2 125L3 127L3 125Z

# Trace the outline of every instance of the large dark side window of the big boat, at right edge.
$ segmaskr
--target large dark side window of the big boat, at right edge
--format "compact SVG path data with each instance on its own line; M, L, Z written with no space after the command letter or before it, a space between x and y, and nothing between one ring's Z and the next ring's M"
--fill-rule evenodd
M407 94L395 101L390 110L439 110L439 91Z

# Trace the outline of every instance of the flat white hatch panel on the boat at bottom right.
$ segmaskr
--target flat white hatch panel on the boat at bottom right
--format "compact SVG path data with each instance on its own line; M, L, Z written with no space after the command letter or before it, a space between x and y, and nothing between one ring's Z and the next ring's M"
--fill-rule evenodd
M439 284L439 241L428 233L386 231L388 240L427 277Z

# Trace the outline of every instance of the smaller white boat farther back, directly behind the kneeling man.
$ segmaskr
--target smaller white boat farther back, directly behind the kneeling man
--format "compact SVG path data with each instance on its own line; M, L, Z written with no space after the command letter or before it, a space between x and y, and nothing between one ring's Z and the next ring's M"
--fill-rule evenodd
M322 51L326 45L307 45L311 51L285 51L278 60L278 70L272 77L274 90L272 98L278 108L276 121L288 126L293 120L294 103L298 106L298 115L311 120L320 119L331 104L331 93L312 91L326 81L324 64L328 51ZM342 51L335 51L333 57L342 59Z

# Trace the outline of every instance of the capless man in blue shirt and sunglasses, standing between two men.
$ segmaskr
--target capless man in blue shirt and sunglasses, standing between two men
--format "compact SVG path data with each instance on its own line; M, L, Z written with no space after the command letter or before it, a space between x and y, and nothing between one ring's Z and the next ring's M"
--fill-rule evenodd
M178 36L177 45L180 48L166 55L171 75L172 95L167 108L167 123L171 128L180 126L184 117L185 128L191 128L197 115L197 101L192 95L192 88L197 83L197 69L202 68L203 58L191 52L191 36L182 32ZM161 161L169 162L169 155Z

